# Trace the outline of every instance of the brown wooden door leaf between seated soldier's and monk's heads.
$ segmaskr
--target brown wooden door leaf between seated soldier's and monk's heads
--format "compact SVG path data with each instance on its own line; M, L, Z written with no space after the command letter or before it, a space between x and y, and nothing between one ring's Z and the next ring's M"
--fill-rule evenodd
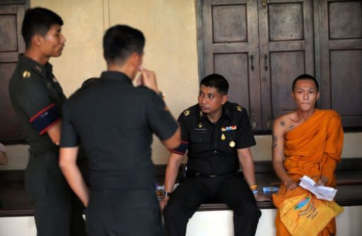
M295 109L291 85L300 74L315 74L313 1L258 1L262 129Z

